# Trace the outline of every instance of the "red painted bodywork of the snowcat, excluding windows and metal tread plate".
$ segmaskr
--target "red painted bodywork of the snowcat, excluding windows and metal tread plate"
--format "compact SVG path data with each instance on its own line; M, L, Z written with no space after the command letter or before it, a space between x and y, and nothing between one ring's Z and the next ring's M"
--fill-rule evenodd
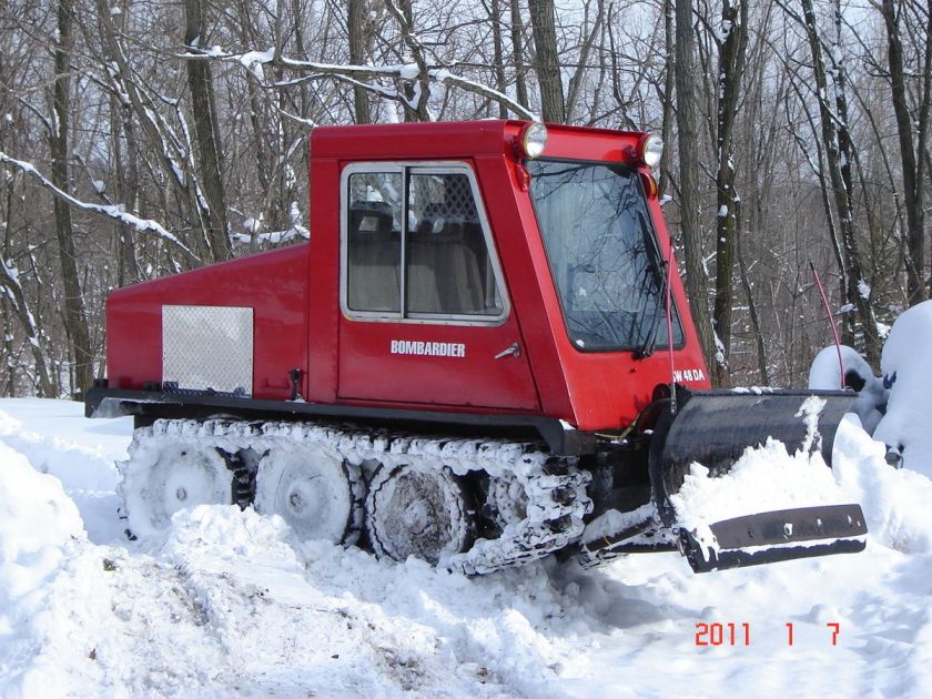
M580 429L627 425L669 384L666 350L585 353L569 341L559 298L515 149L524 122L317 128L312 135L311 242L114 292L108 302L110 385L161 381L161 305L254 308L256 398L288 397L287 371L305 369L302 392L316 403L424 406L453 412L521 412ZM620 161L638 133L550 126L545 158ZM505 275L510 314L498 325L351 320L340 305L340 178L356 162L455 161L475 172ZM645 170L645 172L647 172ZM650 214L669 249L656 199ZM672 285L686 337L679 382L708 388L686 296ZM393 355L393 340L462 343L465 357ZM520 356L495 359L517 342Z

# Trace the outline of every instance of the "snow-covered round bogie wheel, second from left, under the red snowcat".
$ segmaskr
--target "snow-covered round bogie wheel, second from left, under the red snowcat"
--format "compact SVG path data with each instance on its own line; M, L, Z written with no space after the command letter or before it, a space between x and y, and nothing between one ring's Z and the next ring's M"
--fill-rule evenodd
M255 509L281 515L302 540L354 544L363 502L352 468L321 445L273 448L259 463Z

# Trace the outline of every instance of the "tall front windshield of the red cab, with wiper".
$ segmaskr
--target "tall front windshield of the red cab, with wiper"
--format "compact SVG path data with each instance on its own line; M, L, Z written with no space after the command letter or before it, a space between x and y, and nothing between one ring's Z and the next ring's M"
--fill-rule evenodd
M580 350L667 347L663 272L636 172L533 160L530 195L569 336ZM673 308L673 346L682 345Z

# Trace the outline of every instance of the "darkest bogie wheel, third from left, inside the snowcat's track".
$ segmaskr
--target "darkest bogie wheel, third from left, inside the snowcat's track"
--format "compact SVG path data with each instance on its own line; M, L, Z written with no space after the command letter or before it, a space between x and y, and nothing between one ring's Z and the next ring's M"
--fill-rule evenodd
M436 565L466 550L474 521L449 468L382 465L369 484L366 530L379 558L404 561L414 556Z

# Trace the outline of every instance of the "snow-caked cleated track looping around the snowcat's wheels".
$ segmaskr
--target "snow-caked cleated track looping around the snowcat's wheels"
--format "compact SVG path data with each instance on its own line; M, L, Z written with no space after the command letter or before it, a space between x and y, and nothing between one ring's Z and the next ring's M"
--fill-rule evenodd
M357 498L364 497L363 463L371 460L387 467L445 465L459 476L484 472L489 478L516 478L527 495L526 517L506 526L498 538L478 539L469 550L439 564L467 575L521 565L568 546L581 536L582 518L592 507L586 495L589 475L577 467L577 459L555 457L535 443L424 437L308 423L158 419L151 427L135 430L130 458L138 443L158 442L160 436L184 437L229 454L245 448L263 454L283 439L322 444L348 464L351 487ZM239 489L245 474L235 468L234 474L242 504Z

